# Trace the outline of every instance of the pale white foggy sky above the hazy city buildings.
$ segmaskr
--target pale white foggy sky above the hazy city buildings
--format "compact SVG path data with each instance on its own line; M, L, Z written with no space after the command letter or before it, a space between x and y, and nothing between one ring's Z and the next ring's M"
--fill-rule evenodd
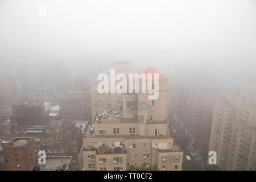
M1 62L64 61L76 77L115 60L166 75L205 65L221 78L255 78L256 1L0 0Z

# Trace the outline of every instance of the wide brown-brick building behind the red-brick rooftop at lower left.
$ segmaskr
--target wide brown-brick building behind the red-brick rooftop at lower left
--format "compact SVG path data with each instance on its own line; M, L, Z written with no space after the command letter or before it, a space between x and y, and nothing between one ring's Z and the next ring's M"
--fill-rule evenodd
M45 151L47 156L71 155L78 160L82 155L82 131L75 127L72 118L53 118L46 125L18 125L10 118L0 122L0 140L11 141L16 137L32 137L35 154ZM80 163L83 161L80 160ZM80 168L82 169L82 168Z

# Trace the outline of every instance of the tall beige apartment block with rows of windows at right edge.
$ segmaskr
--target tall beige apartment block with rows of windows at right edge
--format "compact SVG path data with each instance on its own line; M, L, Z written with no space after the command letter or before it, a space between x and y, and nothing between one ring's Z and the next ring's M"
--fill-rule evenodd
M216 103L209 151L224 170L256 169L256 82L248 81L240 97Z

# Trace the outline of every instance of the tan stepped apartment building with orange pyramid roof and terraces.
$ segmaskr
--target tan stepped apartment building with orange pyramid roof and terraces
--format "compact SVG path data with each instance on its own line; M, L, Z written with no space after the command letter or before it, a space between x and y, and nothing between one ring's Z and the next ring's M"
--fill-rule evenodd
M132 66L114 63L115 72ZM139 73L159 73L147 68ZM127 70L126 73L127 74ZM148 93L99 94L92 85L92 124L83 138L85 170L131 170L135 168L181 170L183 151L174 144L168 120L168 78L159 73L159 97ZM154 85L152 86L154 87ZM128 88L128 87L127 87Z

